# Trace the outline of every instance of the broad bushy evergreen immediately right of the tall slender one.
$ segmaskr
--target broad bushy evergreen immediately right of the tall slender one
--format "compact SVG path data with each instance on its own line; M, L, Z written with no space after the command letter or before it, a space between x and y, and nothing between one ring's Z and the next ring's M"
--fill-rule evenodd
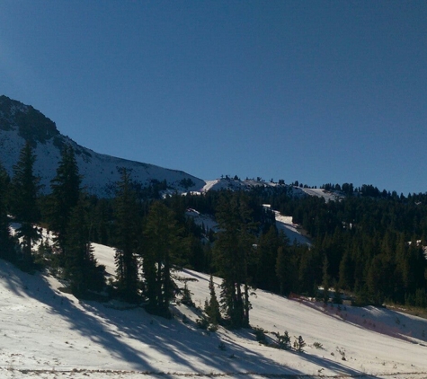
M155 201L145 220L141 251L148 312L170 316L169 303L176 286L172 270L181 263L181 255L187 249L182 233L173 211Z

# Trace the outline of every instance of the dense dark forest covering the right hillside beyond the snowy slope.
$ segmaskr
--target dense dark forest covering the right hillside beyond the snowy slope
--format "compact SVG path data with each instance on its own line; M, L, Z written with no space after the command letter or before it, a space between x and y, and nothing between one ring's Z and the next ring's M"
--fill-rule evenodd
M427 195L378 198L351 191L351 184L344 183L342 188L350 189L347 196L329 202L293 198L286 188L246 192L246 204L257 222L256 232L249 233L256 249L245 257L247 282L283 295L317 295L318 286L325 286L348 291L358 304L388 301L427 306ZM181 201L213 215L220 209L221 197L231 201L239 196L236 192L209 192ZM289 243L269 212L260 210L262 203L293 216L312 237L313 245ZM227 206L228 211L232 208ZM215 249L220 237L221 233L213 236L214 258L220 257ZM217 260L208 262L203 270L223 275Z

